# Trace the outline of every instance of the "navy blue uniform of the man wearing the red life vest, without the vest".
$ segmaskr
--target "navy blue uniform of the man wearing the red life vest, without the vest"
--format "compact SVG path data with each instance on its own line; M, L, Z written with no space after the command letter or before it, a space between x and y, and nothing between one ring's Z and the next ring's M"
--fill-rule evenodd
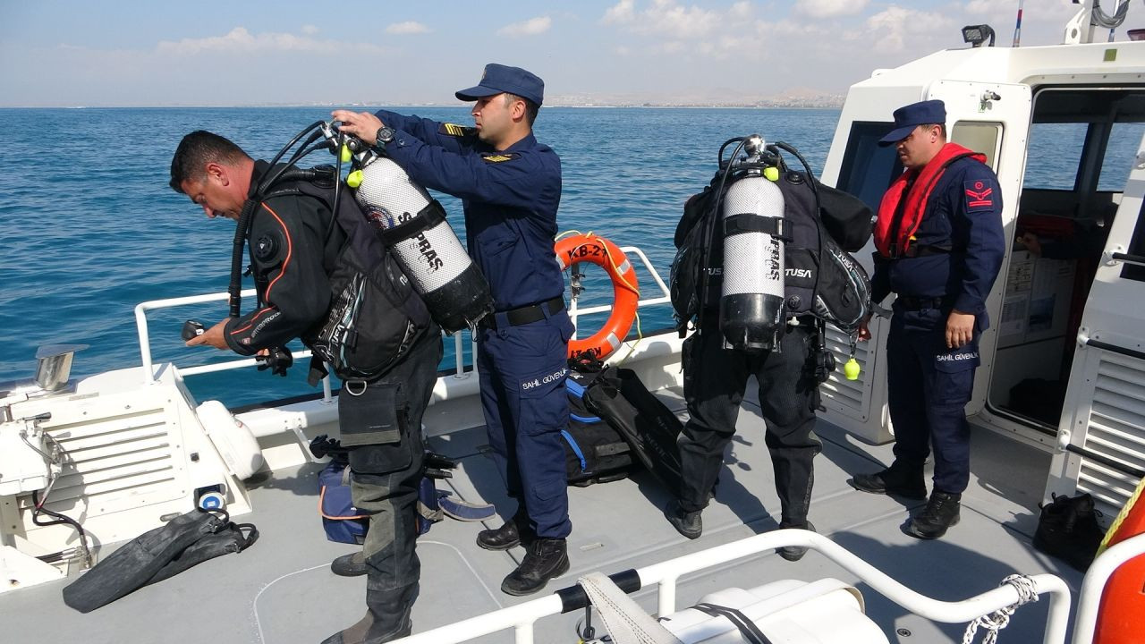
M913 244L919 257L876 253L871 299L898 293L887 338L887 405L894 457L921 471L934 449L934 489L960 494L970 480L970 427L964 407L989 328L986 298L1005 254L1002 190L986 165L963 158L931 193ZM974 315L971 341L946 346L951 309Z

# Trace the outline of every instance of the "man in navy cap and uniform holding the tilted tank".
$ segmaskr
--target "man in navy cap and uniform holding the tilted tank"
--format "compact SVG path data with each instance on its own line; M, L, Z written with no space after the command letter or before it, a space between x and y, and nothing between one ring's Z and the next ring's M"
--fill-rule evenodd
M561 162L532 135L545 84L521 68L488 64L457 92L474 101L463 127L380 110L337 110L341 129L385 151L413 181L455 195L465 207L468 251L492 290L496 313L477 330L481 402L489 442L515 516L477 535L489 550L527 549L502 583L528 595L568 571L564 391L572 323L553 253Z

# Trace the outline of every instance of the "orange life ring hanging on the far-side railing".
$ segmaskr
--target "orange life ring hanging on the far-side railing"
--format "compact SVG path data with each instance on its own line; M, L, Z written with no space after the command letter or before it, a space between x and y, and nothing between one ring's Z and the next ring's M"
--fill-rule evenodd
M590 261L603 268L613 281L613 314L608 316L608 321L592 337L569 343L569 358L589 351L603 360L621 348L621 343L632 328L637 303L640 301L637 272L619 246L598 235L570 235L558 241L553 250L561 270L574 264Z

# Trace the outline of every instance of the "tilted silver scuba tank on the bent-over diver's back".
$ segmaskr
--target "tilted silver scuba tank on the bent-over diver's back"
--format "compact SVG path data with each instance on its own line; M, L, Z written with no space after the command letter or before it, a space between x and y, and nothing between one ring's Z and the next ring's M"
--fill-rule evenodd
M362 158L355 198L448 333L474 327L492 312L489 282L465 252L445 211L393 160Z

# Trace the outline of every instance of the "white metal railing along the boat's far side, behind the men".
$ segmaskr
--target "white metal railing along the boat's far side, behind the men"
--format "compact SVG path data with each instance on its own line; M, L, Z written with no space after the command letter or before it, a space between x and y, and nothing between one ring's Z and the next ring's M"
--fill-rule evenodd
M637 258L640 259L640 262L643 265L645 270L647 272L648 275L652 276L653 282L656 284L656 288L660 291L660 293L656 297L640 299L639 303L637 304L638 308L639 307L647 307L647 306L661 305L661 304L665 304L665 303L671 301L671 294L670 294L670 291L668 289L668 285L664 283L664 280L661 278L660 274L656 272L656 268L653 266L652 261L648 259L648 256L645 254L645 252L641 251L640 249L638 249L637 246L622 246L621 250L624 251L624 253L626 256L630 256L630 257L631 256L635 256ZM254 291L254 289L246 289L246 290L242 291L240 294L244 298L250 298L250 297L254 297L255 296L255 291ZM181 298L167 298L167 299L149 300L149 301L140 303L139 305L135 306L135 328L136 328L136 330L139 332L140 358L141 358L142 364L143 364L143 384L153 383L155 379L156 379L156 376L157 376L156 368L155 368L155 366L152 363L152 360L151 360L151 339L150 339L150 333L149 333L149 329L148 329L148 319L147 319L148 312L159 311L159 309L165 309L165 308L175 308L175 307L182 307L182 306L192 306L192 305L212 303L212 301L223 301L228 297L229 296L227 293L207 293L207 294L202 294L202 296L188 296L188 297L181 297ZM571 299L571 303L569 305L569 316L572 319L572 323L575 325L576 322L577 322L578 316L591 315L591 314L594 314L594 313L603 313L603 312L610 311L610 309L611 309L610 305L599 305L599 306L591 306L591 307L586 307L586 308L578 308L577 307L577 298L574 296L572 299ZM475 345L475 341L472 339L472 335L471 335L471 340L469 341L471 341L469 355L474 355L475 354L475 346L473 346L473 345ZM460 332L453 333L453 352L455 352L453 364L456 366L455 367L455 374L453 374L453 376L455 377L467 377L468 375L467 375L467 372L465 370L466 367L467 367L466 363L465 363L465 339L464 339L464 335L460 333ZM310 356L310 351L309 350L306 350L306 351L302 351L302 352L298 352L298 353L294 354L295 360L301 360L301 359L309 358L309 356ZM198 374L210 374L210 372L214 372L214 371L227 371L227 370L230 370L230 369L250 368L250 367L254 367L256 364L258 364L258 361L254 358L243 358L243 359L236 359L236 360L226 360L226 361L221 361L221 362L212 362L211 364L198 364L198 366L195 366L195 367L180 367L179 368L179 372L182 374L183 376L194 376L194 375L198 375ZM472 368L473 368L474 371L476 370L476 366L475 364L473 364ZM331 400L331 396L333 394L332 394L332 391L331 391L330 377L329 376L325 377L325 378L323 378L323 380L322 380L322 390L323 390L323 399L326 400L326 401Z

